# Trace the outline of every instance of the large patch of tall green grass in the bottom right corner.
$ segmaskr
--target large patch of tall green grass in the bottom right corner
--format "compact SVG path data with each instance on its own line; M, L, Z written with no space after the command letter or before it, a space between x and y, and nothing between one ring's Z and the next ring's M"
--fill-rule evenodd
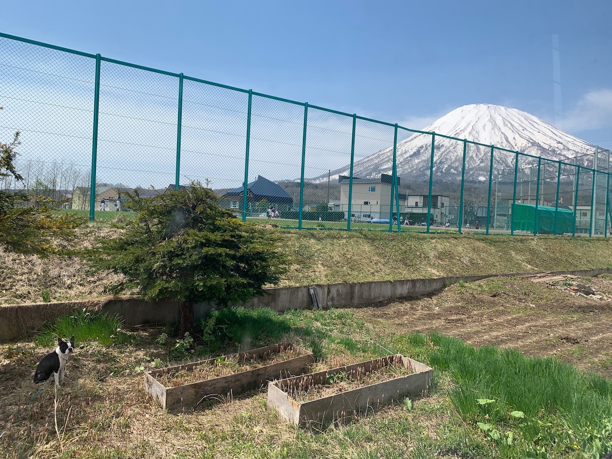
M528 452L554 448L595 457L612 449L611 381L553 357L430 338L435 348L428 360L455 381L449 397L458 414L498 445L509 447L507 431L515 429Z

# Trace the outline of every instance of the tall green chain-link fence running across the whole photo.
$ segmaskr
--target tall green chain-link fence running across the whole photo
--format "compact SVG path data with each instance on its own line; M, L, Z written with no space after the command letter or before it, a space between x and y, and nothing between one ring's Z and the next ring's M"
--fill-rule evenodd
M199 181L242 220L287 228L610 231L610 151L597 147L554 161L6 34L0 106L24 177L2 188L92 220L129 210L134 189ZM414 172L398 176L398 155Z

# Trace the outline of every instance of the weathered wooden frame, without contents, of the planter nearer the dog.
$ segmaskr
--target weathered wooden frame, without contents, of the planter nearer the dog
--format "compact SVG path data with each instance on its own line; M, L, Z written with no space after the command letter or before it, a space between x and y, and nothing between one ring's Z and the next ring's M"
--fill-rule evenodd
M300 355L293 359L278 362L277 364L265 365L253 370L241 371L234 375L220 376L218 378L198 381L192 384L184 384L177 387L165 387L155 379L156 375L171 373L179 370L192 370L203 364L210 364L218 359L199 360L190 364L176 365L174 367L160 368L159 370L144 372L144 389L151 397L159 402L163 409L176 410L197 405L204 397L218 395L221 397L232 397L250 389L257 389L267 381L288 376L303 375L310 371L314 362L313 354L304 348L291 343L278 343L264 348L252 349L242 353L228 354L225 357L246 359L249 357L262 357L266 354L278 354L291 349Z

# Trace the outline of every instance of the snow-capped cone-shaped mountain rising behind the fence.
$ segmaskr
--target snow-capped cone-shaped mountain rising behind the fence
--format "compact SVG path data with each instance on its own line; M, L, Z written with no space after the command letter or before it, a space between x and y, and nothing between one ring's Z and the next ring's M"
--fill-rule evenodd
M478 103L461 106L431 123L424 131L435 132L477 143L505 148L553 160L582 157L581 165L592 165L594 146L557 129L529 113L516 108ZM488 179L491 149L468 144L466 180ZM586 155L586 156L584 156ZM428 181L431 157L431 134L414 133L397 144L397 174L402 181ZM588 164L588 161L591 164ZM436 136L434 152L435 181L460 181L463 142ZM521 159L524 161L524 159ZM528 161L528 160L527 160ZM373 153L353 166L353 176L376 177L392 174L393 147ZM533 163L533 162L531 162ZM349 166L332 171L332 177L349 175ZM494 154L496 170L514 168L514 155L498 150ZM317 177L313 181L327 180Z

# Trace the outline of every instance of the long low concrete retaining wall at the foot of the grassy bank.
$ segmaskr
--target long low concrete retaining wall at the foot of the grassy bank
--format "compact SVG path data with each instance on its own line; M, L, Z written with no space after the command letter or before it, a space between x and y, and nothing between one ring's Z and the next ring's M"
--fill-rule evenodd
M474 282L490 277L514 277L527 275L575 275L595 277L612 274L612 268L581 269L576 271L520 272L508 274L483 274L468 276L438 277L431 279L405 279L363 283L312 285L266 289L266 294L243 304L247 308L270 308L277 312L289 309L324 308L334 306L359 306L392 298L416 297L463 282ZM196 318L205 316L214 304L203 303L195 307ZM116 314L128 326L140 324L168 324L179 320L176 302L151 302L137 297L111 297L91 301L58 303L18 304L0 306L0 341L23 338L39 330L47 321L76 308Z

